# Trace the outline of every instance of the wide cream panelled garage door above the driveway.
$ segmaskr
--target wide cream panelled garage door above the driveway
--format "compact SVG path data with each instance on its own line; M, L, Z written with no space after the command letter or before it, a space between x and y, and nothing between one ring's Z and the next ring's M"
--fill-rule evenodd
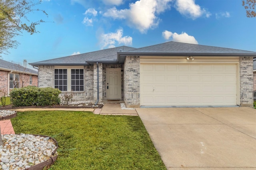
M236 63L141 63L141 106L237 105Z

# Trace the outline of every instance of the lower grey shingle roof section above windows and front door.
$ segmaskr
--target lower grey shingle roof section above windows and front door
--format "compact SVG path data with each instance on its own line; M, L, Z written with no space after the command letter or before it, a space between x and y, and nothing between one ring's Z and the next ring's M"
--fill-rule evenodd
M117 59L118 51L129 51L135 49L134 47L114 47L109 49L102 49L99 51L93 51L89 53L82 53L78 55L70 55L67 57L60 57L56 59L49 59L45 61L39 61L36 63L29 63L30 65L88 65L86 61L102 60L115 61ZM103 61L103 60L102 60Z

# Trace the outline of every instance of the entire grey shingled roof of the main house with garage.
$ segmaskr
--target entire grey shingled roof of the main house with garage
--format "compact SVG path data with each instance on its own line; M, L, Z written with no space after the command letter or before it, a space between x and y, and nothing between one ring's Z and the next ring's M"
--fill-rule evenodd
M157 56L254 56L256 52L240 49L213 47L190 43L165 42L147 47L115 47L78 55L29 63L30 65L88 65L100 63L124 63L127 55Z

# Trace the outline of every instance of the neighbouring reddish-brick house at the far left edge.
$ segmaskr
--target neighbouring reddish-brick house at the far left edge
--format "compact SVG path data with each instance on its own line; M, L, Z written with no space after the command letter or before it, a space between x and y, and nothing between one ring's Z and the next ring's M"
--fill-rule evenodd
M9 95L12 89L29 85L38 86L37 71L0 59L0 90Z

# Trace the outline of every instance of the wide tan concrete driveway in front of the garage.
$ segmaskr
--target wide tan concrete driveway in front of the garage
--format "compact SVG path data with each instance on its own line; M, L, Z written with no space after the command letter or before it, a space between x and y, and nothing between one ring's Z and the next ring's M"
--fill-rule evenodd
M256 109L136 111L168 170L256 170Z

